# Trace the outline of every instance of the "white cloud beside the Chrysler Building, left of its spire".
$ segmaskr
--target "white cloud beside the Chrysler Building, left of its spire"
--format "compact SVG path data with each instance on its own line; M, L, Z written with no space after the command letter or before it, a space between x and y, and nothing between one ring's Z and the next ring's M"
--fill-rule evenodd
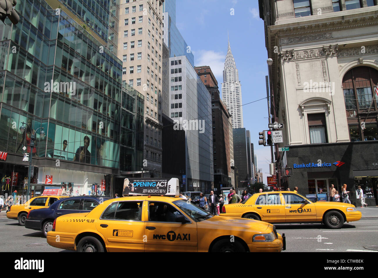
M218 82L223 81L223 68L225 65L226 55L222 52L215 52L213 50L196 50L193 55L195 57L196 66L209 66L214 73ZM220 84L218 84L219 86Z

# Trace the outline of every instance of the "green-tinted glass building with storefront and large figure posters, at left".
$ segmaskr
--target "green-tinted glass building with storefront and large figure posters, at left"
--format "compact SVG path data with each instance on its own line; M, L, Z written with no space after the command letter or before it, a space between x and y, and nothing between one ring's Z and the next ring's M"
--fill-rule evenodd
M57 13L43 0L18 2L15 9L20 22L0 26L0 151L8 152L0 174L11 176L7 191L24 189L24 153L31 150L31 131L43 127L33 149L36 194L46 183L62 182L74 183L76 194L88 194L93 183L111 194L119 170L142 160L135 129L143 98L122 89L121 61L63 9ZM22 122L31 129L22 132Z

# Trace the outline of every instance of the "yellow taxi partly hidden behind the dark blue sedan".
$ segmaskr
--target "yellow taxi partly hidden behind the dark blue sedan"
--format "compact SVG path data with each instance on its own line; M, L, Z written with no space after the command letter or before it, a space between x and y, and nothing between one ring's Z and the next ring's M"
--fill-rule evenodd
M67 198L67 196L38 196L33 197L26 203L20 205L12 205L11 210L6 213L6 217L9 219L18 219L19 225L25 226L25 220L29 211L37 208L50 207L55 201Z

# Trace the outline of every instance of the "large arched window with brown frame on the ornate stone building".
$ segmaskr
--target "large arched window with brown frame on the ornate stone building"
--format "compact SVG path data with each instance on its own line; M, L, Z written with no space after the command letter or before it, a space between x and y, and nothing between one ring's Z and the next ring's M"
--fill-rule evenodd
M372 101L377 83L371 67L352 68L342 79L350 141L378 140L378 96Z

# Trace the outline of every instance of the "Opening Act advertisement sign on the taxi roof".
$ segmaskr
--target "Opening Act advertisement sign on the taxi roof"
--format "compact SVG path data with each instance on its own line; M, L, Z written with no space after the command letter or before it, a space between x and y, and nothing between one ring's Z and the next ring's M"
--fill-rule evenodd
M177 178L153 179L153 178L126 178L123 183L122 195L164 195L178 197L180 188Z

